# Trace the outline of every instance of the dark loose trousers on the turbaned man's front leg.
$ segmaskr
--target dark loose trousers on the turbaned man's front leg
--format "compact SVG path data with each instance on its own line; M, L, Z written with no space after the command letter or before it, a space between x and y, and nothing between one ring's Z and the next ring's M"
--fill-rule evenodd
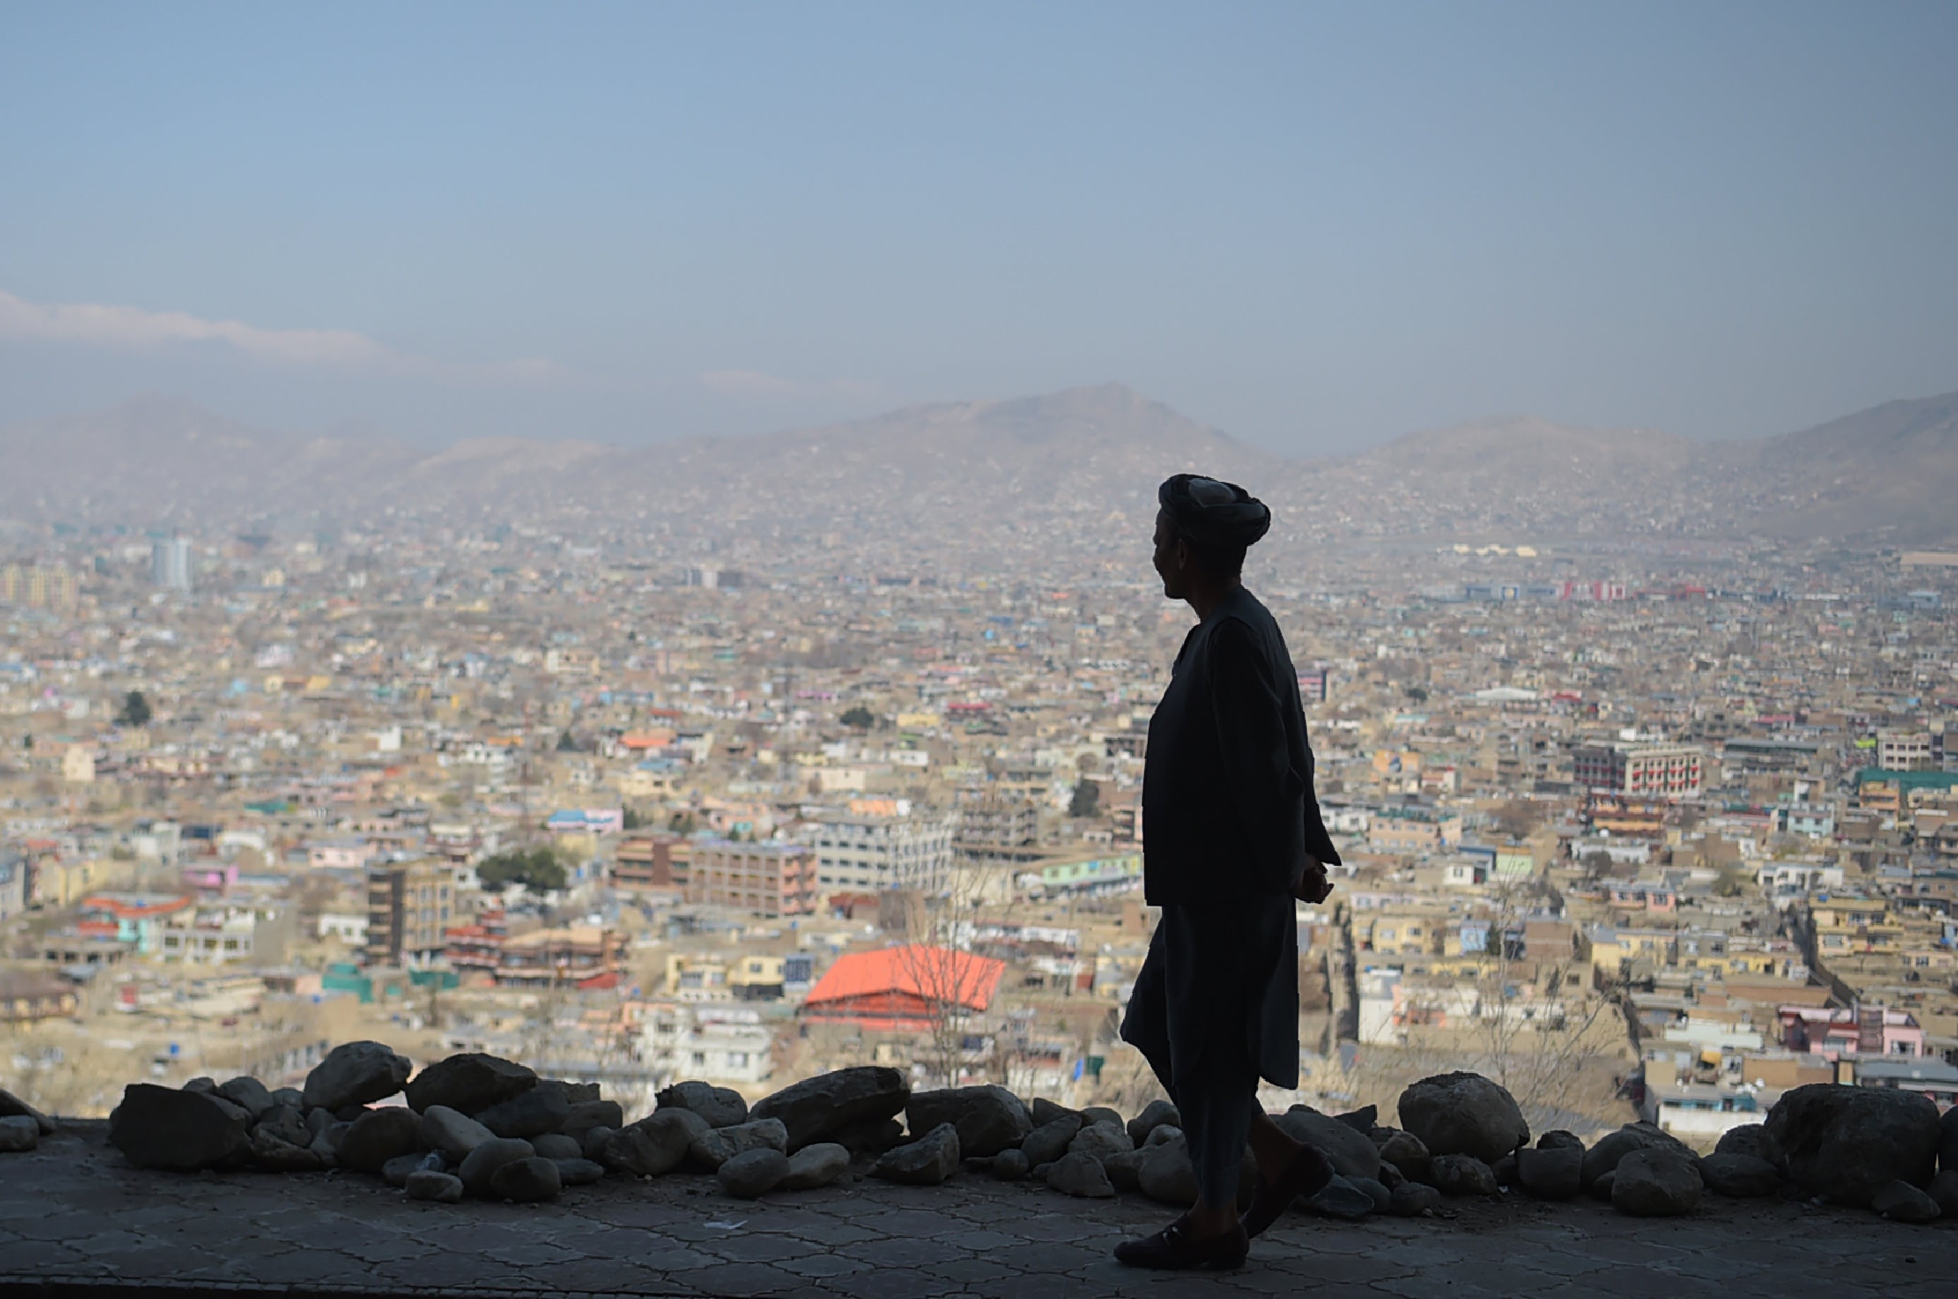
M1241 1003L1206 1007L1194 991L1206 982L1200 972L1214 970L1214 952L1204 950L1212 946L1204 942L1204 917L1194 925L1190 919L1163 907L1122 1017L1122 1040L1143 1054L1175 1101L1204 1205L1235 1205L1257 1113L1257 1066Z

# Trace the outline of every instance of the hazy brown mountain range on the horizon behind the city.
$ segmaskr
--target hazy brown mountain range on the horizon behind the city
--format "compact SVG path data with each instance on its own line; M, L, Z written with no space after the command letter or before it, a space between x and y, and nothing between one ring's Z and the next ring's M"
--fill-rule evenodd
M1868 537L1958 541L1958 394L1745 443L1580 429L1527 415L1286 460L1118 384L952 402L760 437L658 447L386 437L294 439L188 402L147 400L0 433L0 511L202 527L352 523L384 509L599 517L707 537L912 535L952 551L1059 539L1132 547L1155 484L1194 468L1245 482L1290 543L1527 537Z

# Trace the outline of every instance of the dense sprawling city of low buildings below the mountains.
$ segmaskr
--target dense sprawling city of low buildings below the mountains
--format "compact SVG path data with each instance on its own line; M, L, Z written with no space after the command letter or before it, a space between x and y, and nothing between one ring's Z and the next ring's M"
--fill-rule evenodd
M1140 776L1192 617L1130 509L1038 572L10 521L6 1085L106 1115L380 1038L627 1113L850 1064L1132 1113ZM1958 1095L1958 554L1429 531L1245 582L1345 858L1275 1107L1465 1068L1537 1129L1711 1148L1807 1082Z

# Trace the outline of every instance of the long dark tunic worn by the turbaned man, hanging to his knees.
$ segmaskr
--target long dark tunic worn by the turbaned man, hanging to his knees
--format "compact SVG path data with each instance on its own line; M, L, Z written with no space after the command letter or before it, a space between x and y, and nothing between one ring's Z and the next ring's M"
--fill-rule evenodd
M1142 819L1143 899L1163 907L1149 991L1161 978L1175 1074L1200 1074L1241 1040L1257 1076L1296 1087L1292 874L1308 854L1335 864L1339 852L1312 794L1298 674L1243 588L1183 641L1149 721Z

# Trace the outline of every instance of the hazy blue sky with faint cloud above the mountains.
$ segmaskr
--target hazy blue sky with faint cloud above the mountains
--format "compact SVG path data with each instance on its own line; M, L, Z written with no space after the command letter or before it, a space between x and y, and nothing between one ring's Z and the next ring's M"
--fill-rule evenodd
M0 6L0 423L1292 453L1958 388L1958 4Z

